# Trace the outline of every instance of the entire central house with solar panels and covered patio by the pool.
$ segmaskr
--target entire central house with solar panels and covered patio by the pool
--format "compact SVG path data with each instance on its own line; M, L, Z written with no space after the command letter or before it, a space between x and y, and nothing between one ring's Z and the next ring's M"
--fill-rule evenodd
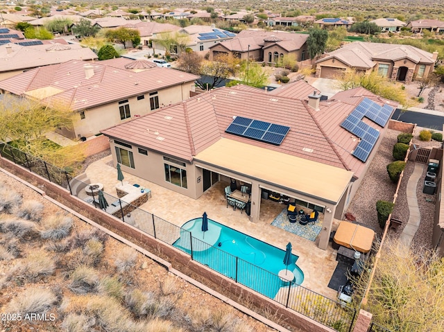
M219 181L242 182L250 188L252 222L271 191L316 209L323 213L318 246L325 250L333 219L342 219L364 179L395 103L362 88L325 102L312 92L292 98L289 89L221 87L102 132L114 165L190 198ZM357 115L358 106L383 119ZM355 126L348 125L352 113Z

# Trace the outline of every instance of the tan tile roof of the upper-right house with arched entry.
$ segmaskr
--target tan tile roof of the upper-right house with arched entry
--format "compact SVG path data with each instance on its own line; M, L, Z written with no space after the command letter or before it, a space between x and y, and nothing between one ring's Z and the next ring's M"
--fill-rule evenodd
M413 62L434 63L433 54L422 51L414 46L403 44L384 44L370 42L352 42L341 49L327 53L325 58L316 61L323 62L336 58L350 67L370 69L375 66L374 60L396 61L409 58Z

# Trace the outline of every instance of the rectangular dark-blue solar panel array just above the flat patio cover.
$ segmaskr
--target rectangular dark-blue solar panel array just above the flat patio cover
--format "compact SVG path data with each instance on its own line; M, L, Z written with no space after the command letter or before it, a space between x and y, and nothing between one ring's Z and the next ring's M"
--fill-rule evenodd
M275 123L237 116L225 132L280 146L289 130L290 127L286 125L276 125Z

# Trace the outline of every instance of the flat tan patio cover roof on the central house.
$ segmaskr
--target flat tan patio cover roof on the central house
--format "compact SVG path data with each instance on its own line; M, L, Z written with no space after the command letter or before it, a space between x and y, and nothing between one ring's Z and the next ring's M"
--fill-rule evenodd
M194 161L331 204L341 200L353 175L341 168L224 138L198 153Z

